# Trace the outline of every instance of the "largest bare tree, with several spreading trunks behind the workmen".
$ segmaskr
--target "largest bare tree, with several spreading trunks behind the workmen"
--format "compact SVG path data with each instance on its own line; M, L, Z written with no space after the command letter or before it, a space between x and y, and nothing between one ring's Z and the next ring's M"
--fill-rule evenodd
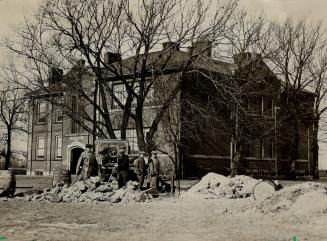
M160 120L179 91L180 81L175 82L145 136L143 109L149 92L157 79L173 67L173 60L180 57L178 46L207 39L221 44L222 36L230 29L229 21L236 7L236 0L216 3L202 0L46 1L37 15L19 28L18 39L8 41L7 45L25 57L29 75L22 73L27 79L23 85L34 89L49 91L45 81L46 67L69 69L78 59L85 59L87 67L83 71L92 74L94 88L86 91L83 86L76 86L78 88L73 89L99 113L100 118L94 121L92 114L87 116L85 113L84 119L94 125L91 129L87 128L89 125L83 125L83 120L78 120L79 123L94 135L116 138L108 108L114 101L122 111L118 118L120 137L126 138L126 128L132 120L139 148L149 150ZM151 51L164 41L174 44L153 55ZM108 61L103 55L105 52L115 54L110 55L112 59ZM182 56L179 78L198 55L199 52L190 51ZM130 56L133 57L123 60ZM117 97L110 80L124 84L127 93L124 99ZM67 87L69 83L65 84ZM95 96L99 96L100 101ZM74 115L70 117L74 118Z

